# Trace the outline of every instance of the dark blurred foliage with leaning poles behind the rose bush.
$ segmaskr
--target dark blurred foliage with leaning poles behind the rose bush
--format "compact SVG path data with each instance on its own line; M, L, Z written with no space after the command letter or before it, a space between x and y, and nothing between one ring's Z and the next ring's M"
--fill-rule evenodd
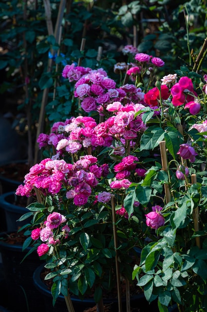
M122 52L130 44L163 59L159 77L184 63L191 69L207 36L206 14L204 0L2 0L1 112L25 138L29 163L41 132L78 115L73 86L61 76L66 64L102 67L118 82L114 65L132 61ZM202 66L205 72L205 60Z

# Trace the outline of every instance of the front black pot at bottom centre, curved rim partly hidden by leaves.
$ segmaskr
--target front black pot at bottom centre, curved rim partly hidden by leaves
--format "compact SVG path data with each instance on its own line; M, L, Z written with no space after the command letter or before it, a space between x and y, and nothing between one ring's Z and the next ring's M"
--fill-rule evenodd
M48 289L48 287L43 283L40 275L44 270L44 265L41 264L34 272L33 274L33 281L35 287L41 292L44 296L45 301L45 310L44 312L68 312L65 298L64 296L60 295L58 297L58 300L56 301L55 307L52 305L52 295L51 291ZM74 307L75 312L83 312L84 310L88 308L94 307L96 304L93 299L84 299L80 300L78 297L71 296L71 301ZM125 309L125 300L123 300L123 310ZM104 299L104 305L110 305L111 311L118 312L118 301L116 298L109 298ZM136 295L131 300L131 307L132 308L138 308L139 312L158 312L157 303L152 303L149 305L149 303L146 301L143 293ZM135 311L135 310L133 310Z

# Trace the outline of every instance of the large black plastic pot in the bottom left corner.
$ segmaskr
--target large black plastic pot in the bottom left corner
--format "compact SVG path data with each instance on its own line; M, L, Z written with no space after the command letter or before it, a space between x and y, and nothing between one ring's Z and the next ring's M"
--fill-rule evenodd
M41 261L37 253L32 252L21 262L31 248L23 252L21 245L6 243L3 239L8 234L0 233L0 254L8 309L12 312L44 311L43 298L33 285L33 272Z

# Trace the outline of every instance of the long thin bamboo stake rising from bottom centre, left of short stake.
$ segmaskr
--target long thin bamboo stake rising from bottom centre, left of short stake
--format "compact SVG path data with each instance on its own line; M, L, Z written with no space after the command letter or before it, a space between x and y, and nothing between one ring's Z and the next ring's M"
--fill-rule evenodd
M115 265L116 265L116 277L117 277L118 307L119 307L119 312L122 312L122 295L121 295L119 261L118 261L118 253L117 253L118 243L117 243L116 212L115 212L115 206L114 206L114 195L112 195L111 197L111 208L112 208L112 222L113 222L113 234L114 234L114 248L116 252Z

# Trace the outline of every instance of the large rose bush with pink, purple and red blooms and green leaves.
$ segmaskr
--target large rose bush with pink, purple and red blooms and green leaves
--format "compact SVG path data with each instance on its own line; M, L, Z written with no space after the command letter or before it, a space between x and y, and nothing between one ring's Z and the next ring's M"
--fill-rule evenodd
M39 136L46 158L16 191L39 198L21 218L33 215L27 243L52 269L54 301L95 287L100 302L119 266L160 312L173 302L196 311L207 291L206 78L185 68L156 81L164 62L127 51L138 68L131 84L64 68L82 115Z

